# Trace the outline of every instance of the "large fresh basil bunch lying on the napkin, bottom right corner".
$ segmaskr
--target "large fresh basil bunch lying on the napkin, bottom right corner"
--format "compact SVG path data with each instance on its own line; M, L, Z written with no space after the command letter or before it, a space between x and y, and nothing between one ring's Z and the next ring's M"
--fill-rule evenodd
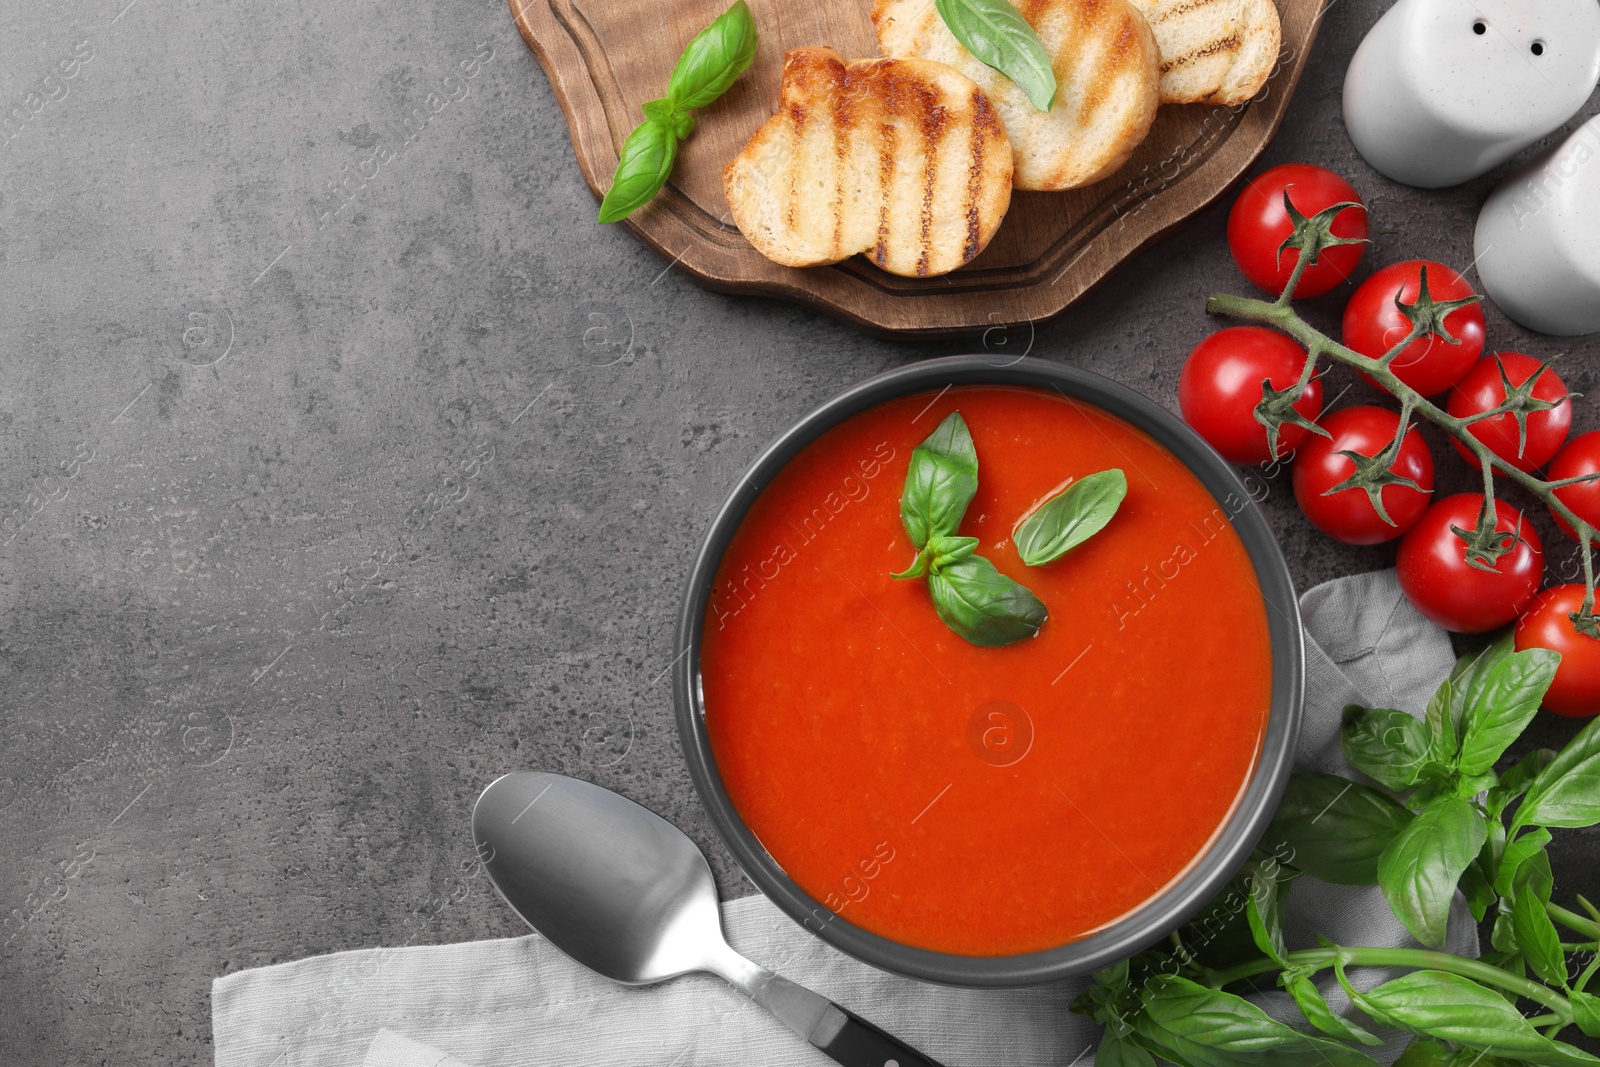
M1506 638L1462 657L1418 720L1394 709L1346 709L1346 758L1382 785L1296 774L1272 827L1234 885L1173 934L1094 976L1074 1011L1106 1024L1094 1062L1181 1067L1360 1064L1379 1040L1336 1014L1312 976L1333 971L1376 1025L1414 1035L1395 1067L1600 1067L1557 1040L1600 1037L1600 909L1552 902L1549 827L1600 822L1600 718L1557 755L1494 763L1531 720L1558 656L1512 651ZM1520 803L1518 803L1520 800ZM1512 808L1515 808L1512 811ZM1406 929L1440 945L1459 888L1474 917L1494 913L1480 960L1427 949L1336 945L1290 950L1283 899L1301 873L1379 885ZM1568 931L1563 939L1563 933ZM1370 990L1352 968L1403 969ZM1235 995L1258 976L1296 1003L1315 1033L1285 1027Z

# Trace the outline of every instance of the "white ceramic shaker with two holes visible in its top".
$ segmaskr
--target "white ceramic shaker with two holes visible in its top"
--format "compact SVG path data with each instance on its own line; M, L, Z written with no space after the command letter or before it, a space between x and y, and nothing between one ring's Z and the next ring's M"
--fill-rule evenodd
M1378 171L1442 189L1570 120L1600 82L1595 0L1398 0L1344 75L1344 125Z

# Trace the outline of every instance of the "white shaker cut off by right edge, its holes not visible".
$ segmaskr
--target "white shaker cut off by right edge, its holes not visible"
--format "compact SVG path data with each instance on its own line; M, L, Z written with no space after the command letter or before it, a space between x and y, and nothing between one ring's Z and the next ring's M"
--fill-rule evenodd
M1600 331L1600 115L1490 195L1474 243L1485 293L1518 323Z

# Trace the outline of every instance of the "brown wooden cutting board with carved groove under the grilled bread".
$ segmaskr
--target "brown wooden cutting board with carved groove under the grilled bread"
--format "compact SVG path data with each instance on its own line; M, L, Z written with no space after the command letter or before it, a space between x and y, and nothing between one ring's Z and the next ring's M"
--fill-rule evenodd
M638 106L666 91L678 53L731 0L510 0L566 114L578 165L600 197ZM1288 107L1325 0L1278 0L1280 62L1238 109L1166 106L1133 158L1070 192L1018 192L1000 232L966 267L902 278L856 256L781 267L733 226L722 168L773 114L784 53L830 45L875 56L870 0L749 0L755 62L702 112L670 184L619 226L709 288L810 304L874 333L949 334L1048 318L1118 262L1219 197L1261 154Z

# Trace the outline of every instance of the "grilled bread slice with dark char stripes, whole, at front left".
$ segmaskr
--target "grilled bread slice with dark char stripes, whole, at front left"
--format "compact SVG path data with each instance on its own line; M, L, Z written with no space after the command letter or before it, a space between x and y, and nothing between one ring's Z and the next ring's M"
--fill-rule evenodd
M778 114L722 173L733 219L790 267L867 253L946 274L984 250L1011 203L1011 147L989 98L950 67L784 56Z

